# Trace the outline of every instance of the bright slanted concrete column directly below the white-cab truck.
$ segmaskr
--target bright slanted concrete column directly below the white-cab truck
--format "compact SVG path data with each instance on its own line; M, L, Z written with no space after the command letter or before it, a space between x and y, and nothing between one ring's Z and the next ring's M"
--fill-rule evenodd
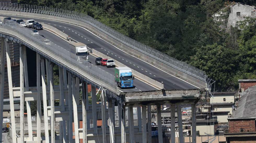
M78 132L78 118L77 118L77 100L76 100L76 80L72 77L72 97L73 97L73 116L74 116L74 130L75 130L75 143L79 143L79 132Z

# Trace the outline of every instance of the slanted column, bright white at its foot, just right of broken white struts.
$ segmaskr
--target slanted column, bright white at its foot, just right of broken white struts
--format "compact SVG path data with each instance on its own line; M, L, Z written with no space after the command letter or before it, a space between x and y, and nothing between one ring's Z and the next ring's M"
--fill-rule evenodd
M114 138L114 123L115 120L113 118L113 100L108 100L108 125L109 125L109 134L110 134L110 143L115 142Z

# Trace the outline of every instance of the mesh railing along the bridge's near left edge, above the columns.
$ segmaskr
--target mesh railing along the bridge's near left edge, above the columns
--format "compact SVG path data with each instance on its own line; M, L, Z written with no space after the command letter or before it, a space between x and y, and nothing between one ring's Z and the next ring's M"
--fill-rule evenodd
M0 24L0 32L4 35L10 35L11 37L15 36L17 39L33 46L38 51L44 53L53 60L60 62L62 65L77 72L95 84L102 85L115 94L118 93L115 78L112 74L92 65L89 62L78 62L75 54L54 44L43 36L32 36L30 31L31 30L20 26L16 22L12 24Z

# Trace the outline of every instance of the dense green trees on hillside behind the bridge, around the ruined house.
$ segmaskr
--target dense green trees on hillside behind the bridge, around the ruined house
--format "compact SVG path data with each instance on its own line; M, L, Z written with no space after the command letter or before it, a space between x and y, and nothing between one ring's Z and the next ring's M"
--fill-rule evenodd
M235 90L237 79L256 78L255 18L223 30L212 19L227 0L20 0L86 13L113 29L192 64L216 80L218 91ZM236 0L256 5L255 0Z

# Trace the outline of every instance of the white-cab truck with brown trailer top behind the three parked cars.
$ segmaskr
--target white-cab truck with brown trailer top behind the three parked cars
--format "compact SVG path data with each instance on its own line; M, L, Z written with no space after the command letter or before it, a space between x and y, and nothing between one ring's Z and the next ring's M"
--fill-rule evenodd
M77 55L78 62L88 61L88 56L89 53L92 53L92 49L80 42L70 43L70 45L73 46L70 52Z

